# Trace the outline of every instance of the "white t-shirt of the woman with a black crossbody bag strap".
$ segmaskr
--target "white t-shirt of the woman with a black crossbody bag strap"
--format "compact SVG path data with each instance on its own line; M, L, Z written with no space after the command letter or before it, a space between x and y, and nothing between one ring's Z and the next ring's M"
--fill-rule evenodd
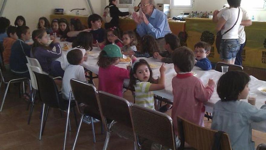
M226 20L224 28L222 29L221 33L223 34L227 30L232 28L229 32L227 32L225 35L222 36L222 39L238 39L238 28L242 21L242 16L243 12L240 9L238 21L234 26L234 28L232 28L238 17L238 8L230 8L230 9L227 8L221 13L221 17Z

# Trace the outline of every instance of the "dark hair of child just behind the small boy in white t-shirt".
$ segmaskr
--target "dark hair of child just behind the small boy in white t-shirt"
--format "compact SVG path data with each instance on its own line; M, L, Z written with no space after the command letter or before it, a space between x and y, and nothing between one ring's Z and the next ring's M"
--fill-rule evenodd
M72 43L72 47L92 50L93 36L90 32L80 32Z

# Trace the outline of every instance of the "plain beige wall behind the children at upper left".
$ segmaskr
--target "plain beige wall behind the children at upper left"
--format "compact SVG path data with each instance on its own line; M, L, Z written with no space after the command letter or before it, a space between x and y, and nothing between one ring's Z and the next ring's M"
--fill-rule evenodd
M95 13L102 14L102 3L105 0L91 0ZM0 0L2 6L3 0ZM87 0L8 0L3 16L8 18L11 25L14 25L15 19L18 15L24 16L27 26L31 31L36 29L38 19L42 16L47 17L54 13L54 8L64 8L65 11L70 11L74 8L86 8L80 10L80 15L91 14ZM72 12L76 14L76 10Z

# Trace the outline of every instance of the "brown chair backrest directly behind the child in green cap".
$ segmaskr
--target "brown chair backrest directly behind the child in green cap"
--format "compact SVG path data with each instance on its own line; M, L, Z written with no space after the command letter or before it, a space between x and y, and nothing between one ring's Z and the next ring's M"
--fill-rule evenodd
M120 124L126 125L132 128L131 118L130 118L130 103L122 97L109 94L107 92L99 91L99 101L100 111L102 112L102 118L106 120L114 120Z

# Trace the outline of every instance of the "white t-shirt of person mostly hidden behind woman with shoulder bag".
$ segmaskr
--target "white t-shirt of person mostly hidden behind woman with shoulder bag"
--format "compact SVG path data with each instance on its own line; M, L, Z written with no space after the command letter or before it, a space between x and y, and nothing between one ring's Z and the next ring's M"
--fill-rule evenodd
M217 14L218 19L222 17L222 13L227 9L228 8L222 8L220 10L220 12ZM250 15L248 14L248 12L244 8L240 7L240 10L242 10L242 12L243 12L242 21L243 20L251 20ZM245 26L243 26L243 25L240 25L238 28L238 37L239 37L240 44L243 44L246 41L246 33L244 31L244 28L245 28Z

